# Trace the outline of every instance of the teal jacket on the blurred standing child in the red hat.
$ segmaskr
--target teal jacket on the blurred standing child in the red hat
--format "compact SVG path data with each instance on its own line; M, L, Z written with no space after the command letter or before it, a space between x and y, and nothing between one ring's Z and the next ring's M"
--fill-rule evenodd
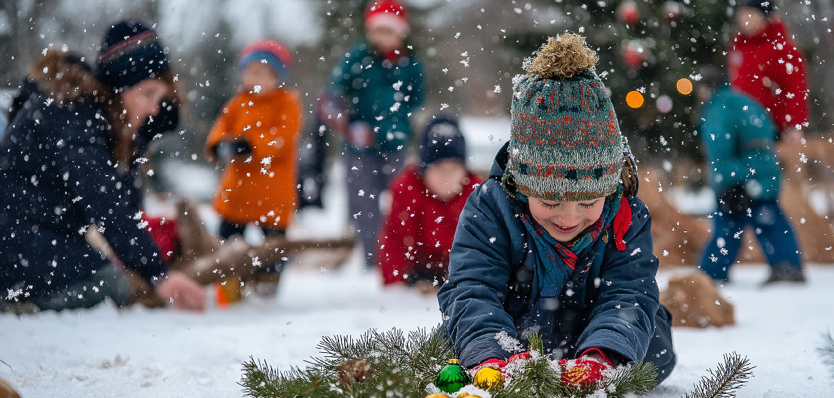
M389 62L368 44L346 53L326 92L347 102L354 122L368 122L379 152L402 149L411 137L409 115L423 102L423 67L414 55Z

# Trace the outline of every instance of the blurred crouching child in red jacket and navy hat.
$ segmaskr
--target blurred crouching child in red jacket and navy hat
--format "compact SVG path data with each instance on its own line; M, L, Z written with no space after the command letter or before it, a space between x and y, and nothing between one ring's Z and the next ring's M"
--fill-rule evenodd
M436 292L449 272L449 251L466 199L480 178L466 169L465 140L455 119L435 116L425 128L420 164L389 186L391 211L379 234L385 285Z

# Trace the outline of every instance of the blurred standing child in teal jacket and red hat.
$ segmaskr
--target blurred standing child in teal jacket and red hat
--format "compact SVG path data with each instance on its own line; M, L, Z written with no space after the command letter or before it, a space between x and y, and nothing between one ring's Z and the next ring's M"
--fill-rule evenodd
M366 265L375 265L383 219L379 193L404 167L411 139L409 117L423 100L423 68L405 46L407 11L399 2L369 3L368 42L345 54L324 88L321 124L344 138L348 207Z

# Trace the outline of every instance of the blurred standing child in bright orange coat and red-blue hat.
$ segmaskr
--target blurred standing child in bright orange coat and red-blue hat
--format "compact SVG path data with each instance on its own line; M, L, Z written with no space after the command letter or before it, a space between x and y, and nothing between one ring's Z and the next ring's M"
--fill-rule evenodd
M292 221L302 116L298 92L287 87L291 62L287 47L276 40L244 47L237 65L244 86L208 134L206 156L225 165L214 197L224 239L242 234L250 222L266 236L284 235ZM264 287L267 294L277 286L278 267L264 265L274 276L274 286Z

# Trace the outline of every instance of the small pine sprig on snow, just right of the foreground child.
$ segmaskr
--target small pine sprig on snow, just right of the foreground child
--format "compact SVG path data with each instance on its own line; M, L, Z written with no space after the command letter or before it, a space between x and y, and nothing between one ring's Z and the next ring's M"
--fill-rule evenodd
M753 368L747 357L741 358L735 351L724 355L724 363L718 364L716 371L708 370L710 376L701 376L701 382L695 391L683 398L731 398L736 390L753 376Z

